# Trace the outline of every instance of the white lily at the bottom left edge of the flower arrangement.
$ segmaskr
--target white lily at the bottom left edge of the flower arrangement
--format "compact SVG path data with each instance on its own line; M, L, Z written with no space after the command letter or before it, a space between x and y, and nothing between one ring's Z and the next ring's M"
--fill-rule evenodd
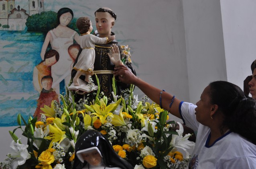
M16 145L14 145L14 140L10 143L10 147L12 148L11 156L15 159L12 161L12 169L16 169L18 165L23 165L27 159L30 159L31 155L28 153L28 145L18 143L17 140Z

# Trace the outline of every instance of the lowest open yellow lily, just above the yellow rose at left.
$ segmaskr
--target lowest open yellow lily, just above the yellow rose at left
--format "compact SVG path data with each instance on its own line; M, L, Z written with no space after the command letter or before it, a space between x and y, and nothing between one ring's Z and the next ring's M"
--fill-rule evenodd
M59 127L54 124L54 126L52 126L51 124L49 124L49 130L51 132L51 134L47 137L44 137L44 139L48 139L51 140L51 143L49 145L49 149L51 147L53 147L53 142L57 143L61 143L61 141L63 141L63 139L65 139L67 136L65 135L65 131L61 131L61 129L59 129Z

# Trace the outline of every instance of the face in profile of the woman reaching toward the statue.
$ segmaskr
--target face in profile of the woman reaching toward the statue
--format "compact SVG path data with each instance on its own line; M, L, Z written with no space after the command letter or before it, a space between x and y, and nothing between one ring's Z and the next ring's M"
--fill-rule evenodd
M199 123L206 125L205 121L211 118L211 98L210 98L210 87L207 86L201 94L200 100L196 103L195 108L196 119Z

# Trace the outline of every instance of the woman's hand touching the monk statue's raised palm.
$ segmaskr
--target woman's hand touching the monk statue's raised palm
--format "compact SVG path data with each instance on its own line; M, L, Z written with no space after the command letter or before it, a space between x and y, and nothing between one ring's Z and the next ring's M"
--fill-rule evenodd
M132 73L132 71L123 64L120 64L118 65L118 67L115 67L114 75L118 76L119 80L126 84L136 85L136 82L138 81L138 77L135 76Z

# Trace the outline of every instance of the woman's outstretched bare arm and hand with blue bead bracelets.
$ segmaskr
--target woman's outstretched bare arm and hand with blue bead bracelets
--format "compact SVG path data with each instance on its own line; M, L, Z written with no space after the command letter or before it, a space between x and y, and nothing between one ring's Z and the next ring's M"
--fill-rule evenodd
M135 76L126 66L120 64L120 66L115 68L114 72L115 76L118 76L119 80L121 80L124 83L127 84L134 84L140 90L147 95L152 101L157 103L158 105L160 104L160 93L161 89L157 89L156 87L148 84L147 82L141 80L137 76ZM169 106L172 102L173 95L170 95L167 92L162 92L161 95L161 102L163 109L170 111L172 115L175 115L176 117L181 118L180 113L179 113L179 104L181 101L177 98L174 99L173 104L171 105L171 109L169 109Z

